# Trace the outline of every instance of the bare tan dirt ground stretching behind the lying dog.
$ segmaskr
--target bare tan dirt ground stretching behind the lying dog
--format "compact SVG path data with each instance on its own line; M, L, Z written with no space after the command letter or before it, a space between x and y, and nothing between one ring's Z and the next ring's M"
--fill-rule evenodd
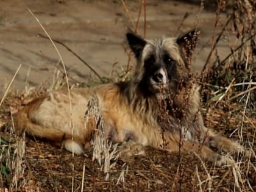
M201 28L201 41L194 54L194 71L200 71L204 65L215 25L215 9L200 12L199 2L148 0L146 5L147 38L179 35L197 25ZM126 5L136 22L140 1L126 1ZM13 90L24 90L25 86L34 87L43 82L47 87L55 67L63 71L50 41L38 37L44 32L27 8L52 38L73 49L101 76L110 77L114 63L118 71L122 67L126 69L128 57L123 44L127 26L132 27L132 24L121 1L0 0L0 94L20 64ZM188 17L177 32L186 13ZM143 13L141 15L138 32L143 35ZM221 15L221 21L224 20L226 13ZM229 53L224 43L219 43L221 57ZM57 47L70 79L87 83L92 74L90 69L63 46L57 44Z

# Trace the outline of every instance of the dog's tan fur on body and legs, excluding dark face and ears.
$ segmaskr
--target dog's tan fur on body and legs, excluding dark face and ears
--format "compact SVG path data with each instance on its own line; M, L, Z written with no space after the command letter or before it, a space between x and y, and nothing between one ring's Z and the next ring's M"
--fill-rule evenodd
M172 41L174 39L163 41L163 47L167 46L168 51L179 62L180 76L185 78L187 69L179 55L177 44ZM162 124L158 120L159 100L162 94L144 93L140 87L144 57L151 49L154 49L154 42L148 41L146 52L143 52L132 80L71 90L71 112L67 90L51 91L30 102L15 116L16 131L26 131L32 137L51 141L64 146L68 151L74 149L76 154L82 154L95 129L94 119L89 119L85 126L84 115L88 100L92 94L96 94L105 122L105 135L113 142L132 141L142 146L152 146L170 152L180 149L193 151L210 162L216 162L218 166L229 163L229 158L213 152L209 147L223 149L226 152L244 151L244 148L225 137L213 134L204 127L200 113L199 87L193 82L178 88L177 91L174 88L176 84L169 83L172 91L169 100L176 107L169 108L170 111L165 118L168 119L167 126L165 122ZM177 118L179 111L183 115Z

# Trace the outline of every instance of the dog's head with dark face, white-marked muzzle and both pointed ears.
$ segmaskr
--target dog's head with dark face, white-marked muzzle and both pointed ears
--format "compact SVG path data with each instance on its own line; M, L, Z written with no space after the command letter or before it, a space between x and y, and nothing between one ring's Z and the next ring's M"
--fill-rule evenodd
M197 40L191 31L179 38L145 40L132 31L126 38L137 59L134 80L151 93L162 89L176 90L188 80L191 52Z

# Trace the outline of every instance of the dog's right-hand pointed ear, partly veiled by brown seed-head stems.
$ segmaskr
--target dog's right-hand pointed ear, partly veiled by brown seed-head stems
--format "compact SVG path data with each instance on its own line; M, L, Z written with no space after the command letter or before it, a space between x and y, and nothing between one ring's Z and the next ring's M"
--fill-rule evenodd
M191 30L187 34L177 38L176 43L179 44L180 50L185 54L187 59L190 59L191 54L196 48L199 30Z

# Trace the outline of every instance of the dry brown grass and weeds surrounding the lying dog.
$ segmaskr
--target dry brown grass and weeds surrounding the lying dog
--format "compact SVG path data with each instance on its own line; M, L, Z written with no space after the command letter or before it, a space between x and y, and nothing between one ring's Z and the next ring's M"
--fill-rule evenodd
M235 9L229 21L233 25L229 23L219 29L219 12L224 2L219 1L212 50L205 71L197 79L202 84L202 112L205 126L244 144L251 151L251 159L238 155L234 166L216 168L196 154L170 154L152 148L146 150L145 156L121 158L124 148L107 141L102 131L104 119L96 96L85 113L85 120L93 117L98 122L91 140L93 148L82 157L72 157L50 144L13 133L12 114L44 90L19 95L7 90L0 104L0 191L256 191L255 4L250 0L233 2ZM146 1L141 1L137 21L143 7L145 15ZM129 20L137 30L138 24L131 16ZM232 35L230 30L240 44L230 46L232 54L220 61L218 54L213 53L218 53L222 35ZM129 62L123 71L113 79L129 78ZM63 81L57 72L50 89L59 88Z

